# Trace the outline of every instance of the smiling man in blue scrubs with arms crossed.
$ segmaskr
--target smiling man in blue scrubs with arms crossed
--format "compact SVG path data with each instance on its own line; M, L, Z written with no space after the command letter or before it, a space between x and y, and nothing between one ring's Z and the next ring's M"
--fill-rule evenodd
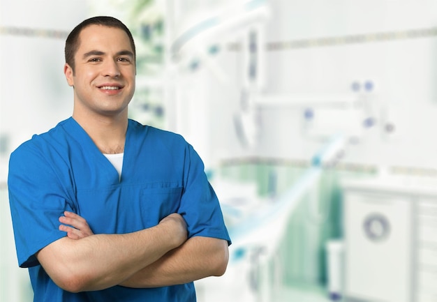
M10 156L20 266L34 301L195 301L230 238L202 161L180 135L128 119L131 32L112 17L66 40L73 116Z

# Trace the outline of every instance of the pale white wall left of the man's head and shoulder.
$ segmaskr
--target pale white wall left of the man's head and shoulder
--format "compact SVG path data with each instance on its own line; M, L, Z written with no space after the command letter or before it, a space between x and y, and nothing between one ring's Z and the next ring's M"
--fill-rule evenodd
M71 115L73 95L63 74L65 33L84 19L85 1L1 0L0 183L10 151ZM28 34L23 34L30 29ZM36 32L36 29L42 31ZM11 31L20 31L12 34ZM47 35L58 32L59 37Z

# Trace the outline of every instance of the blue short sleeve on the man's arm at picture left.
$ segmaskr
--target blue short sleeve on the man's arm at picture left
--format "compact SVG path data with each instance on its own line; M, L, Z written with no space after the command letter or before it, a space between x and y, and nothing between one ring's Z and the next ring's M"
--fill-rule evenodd
M36 252L66 236L58 229L58 219L64 211L74 209L61 186L61 176L53 169L57 164L56 156L29 142L10 156L9 202L21 267L38 265Z

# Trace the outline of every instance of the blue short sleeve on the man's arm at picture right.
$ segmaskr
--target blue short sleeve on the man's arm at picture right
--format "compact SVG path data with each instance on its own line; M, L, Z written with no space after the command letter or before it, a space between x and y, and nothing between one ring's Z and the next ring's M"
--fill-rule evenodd
M188 236L205 236L231 243L216 193L205 174L205 167L188 144L185 158L184 192L179 213L188 225Z

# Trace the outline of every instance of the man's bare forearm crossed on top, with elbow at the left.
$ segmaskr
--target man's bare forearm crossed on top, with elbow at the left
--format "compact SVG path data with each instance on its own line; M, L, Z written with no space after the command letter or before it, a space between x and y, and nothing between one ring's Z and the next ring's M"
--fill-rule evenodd
M69 292L117 285L156 262L183 241L175 227L157 225L130 234L97 234L59 239L38 252L50 278Z

